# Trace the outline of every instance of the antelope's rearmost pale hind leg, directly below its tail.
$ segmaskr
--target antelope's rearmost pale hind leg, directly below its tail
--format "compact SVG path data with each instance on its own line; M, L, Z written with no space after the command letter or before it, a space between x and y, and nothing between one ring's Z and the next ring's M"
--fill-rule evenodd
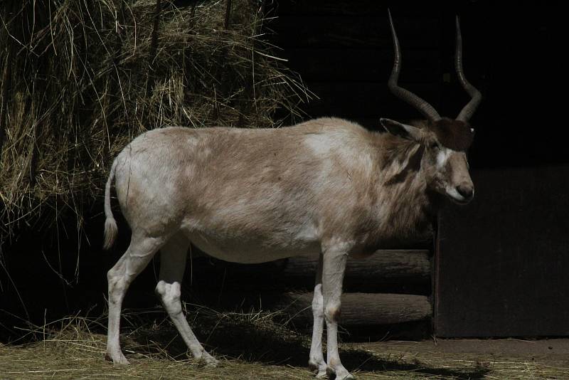
M120 312L122 300L134 278L148 265L152 256L164 244L166 238L150 238L132 235L127 252L107 273L109 283L109 329L107 332L106 359L114 364L129 364L119 344Z

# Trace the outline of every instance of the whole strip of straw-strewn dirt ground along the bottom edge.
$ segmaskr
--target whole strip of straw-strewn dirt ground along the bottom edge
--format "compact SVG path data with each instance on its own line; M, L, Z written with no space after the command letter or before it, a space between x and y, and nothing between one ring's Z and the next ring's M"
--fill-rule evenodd
M168 344L156 342L156 347L149 349L148 345L127 339L123 349L130 366L112 366L103 359L103 334L80 333L24 345L0 344L0 379L313 378L307 366L300 363L307 359L305 345L298 349L302 357L289 352L288 357L282 357L282 364L265 361L262 354L260 359L248 360L223 356L214 350L221 362L211 368L186 355L171 357ZM160 347L165 349L161 351ZM275 349L283 352L279 347ZM569 339L343 344L341 357L356 379L569 379Z

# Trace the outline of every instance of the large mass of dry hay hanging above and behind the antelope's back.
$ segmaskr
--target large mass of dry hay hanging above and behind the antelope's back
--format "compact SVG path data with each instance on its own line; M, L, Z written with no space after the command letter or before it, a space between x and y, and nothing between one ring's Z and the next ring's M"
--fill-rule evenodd
M146 130L278 127L309 97L262 40L264 2L3 3L0 242L63 211L80 226Z

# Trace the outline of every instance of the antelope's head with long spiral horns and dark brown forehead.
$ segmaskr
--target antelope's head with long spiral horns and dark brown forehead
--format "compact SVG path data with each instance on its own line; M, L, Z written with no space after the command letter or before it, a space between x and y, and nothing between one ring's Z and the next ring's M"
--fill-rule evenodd
M388 132L412 139L424 149L423 162L430 170L427 171L427 186L430 189L446 195L458 204L467 204L474 197L474 184L469 174L467 151L474 138L474 128L469 125L469 119L477 109L482 95L464 77L462 70L462 36L457 16L457 45L455 68L460 83L470 95L471 100L462 108L456 119L440 117L432 105L422 100L409 90L400 88L397 84L401 69L401 52L399 41L389 13L395 60L393 70L388 80L388 87L396 97L405 100L425 116L422 126L405 125L389 119L381 119L381 125Z

